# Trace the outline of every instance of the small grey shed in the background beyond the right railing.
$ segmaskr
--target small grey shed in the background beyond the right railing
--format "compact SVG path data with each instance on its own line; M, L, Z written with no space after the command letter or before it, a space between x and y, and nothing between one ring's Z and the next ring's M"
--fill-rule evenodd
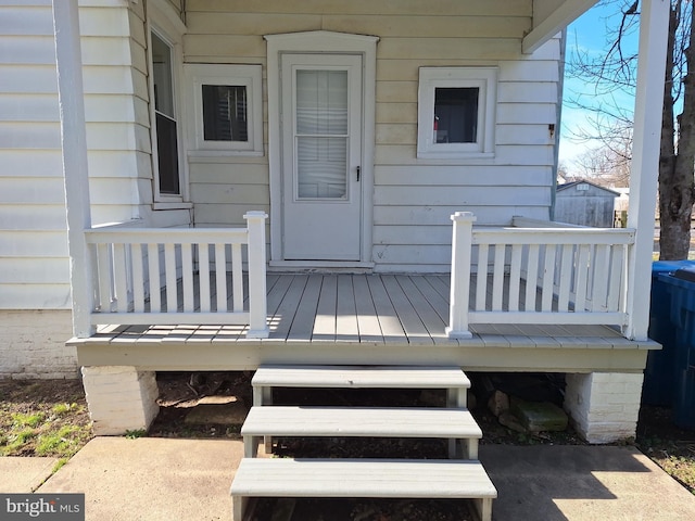
M555 191L555 220L572 225L610 228L616 198L620 193L586 180L558 185Z

